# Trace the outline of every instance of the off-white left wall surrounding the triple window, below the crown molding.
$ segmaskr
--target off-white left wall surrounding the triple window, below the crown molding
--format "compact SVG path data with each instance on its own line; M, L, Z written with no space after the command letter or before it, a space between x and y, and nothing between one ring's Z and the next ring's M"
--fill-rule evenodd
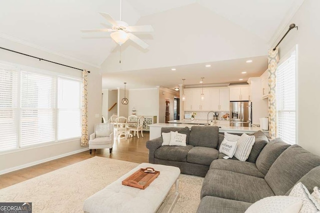
M58 63L66 64L69 66L83 68L90 70L88 74L88 133L93 132L94 123L100 122L100 117L95 118L95 114L101 114L101 76L99 69L90 67L88 65L72 61L39 49L35 49L17 42L9 41L0 38L0 46L15 51L20 51L29 55L34 55L47 60L52 60ZM35 58L30 58L17 53L9 52L0 49L0 60L8 61L15 64L35 67L53 72L64 73L71 76L81 77L81 71L63 67L57 64L52 64L45 61L39 61ZM80 140L74 140L65 143L53 143L49 145L41 145L36 149L22 149L18 152L2 152L0 153L0 172L8 172L10 169L22 168L23 165L31 165L32 162L45 161L45 159L55 158L56 156L67 155L71 152L81 151L83 148L80 146Z

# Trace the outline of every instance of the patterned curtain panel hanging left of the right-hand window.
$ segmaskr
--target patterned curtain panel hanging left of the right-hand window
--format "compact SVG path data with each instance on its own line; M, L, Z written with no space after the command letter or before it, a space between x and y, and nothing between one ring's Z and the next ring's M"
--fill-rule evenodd
M278 49L268 51L268 111L269 111L269 135L276 137L276 65L278 62Z

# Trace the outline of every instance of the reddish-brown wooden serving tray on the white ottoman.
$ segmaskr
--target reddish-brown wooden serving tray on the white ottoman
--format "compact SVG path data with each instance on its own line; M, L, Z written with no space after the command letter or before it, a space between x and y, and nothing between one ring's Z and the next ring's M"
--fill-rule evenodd
M144 172L147 169L150 171L154 171L154 173ZM147 186L149 186L152 183L154 179L156 179L156 177L159 176L159 174L159 171L155 171L151 167L147 167L145 169L141 168L129 177L127 177L126 179L124 179L122 181L122 185L144 190L145 188L147 188Z

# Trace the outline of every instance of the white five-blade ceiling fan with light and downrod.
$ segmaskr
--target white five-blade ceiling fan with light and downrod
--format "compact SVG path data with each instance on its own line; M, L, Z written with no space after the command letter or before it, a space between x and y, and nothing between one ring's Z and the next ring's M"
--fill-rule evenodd
M99 13L106 19L109 24L112 25L112 27L102 29L83 29L81 30L81 32L112 32L110 34L111 38L120 46L128 39L132 40L144 49L149 46L146 42L144 42L131 32L152 32L153 27L151 25L129 26L126 22L122 21L122 0L120 0L120 20L114 20L108 13Z

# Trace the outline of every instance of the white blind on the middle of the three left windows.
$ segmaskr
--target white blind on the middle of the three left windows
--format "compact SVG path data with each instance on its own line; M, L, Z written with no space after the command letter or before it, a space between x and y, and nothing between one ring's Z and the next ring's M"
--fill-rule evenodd
M20 147L55 141L56 77L21 72Z

